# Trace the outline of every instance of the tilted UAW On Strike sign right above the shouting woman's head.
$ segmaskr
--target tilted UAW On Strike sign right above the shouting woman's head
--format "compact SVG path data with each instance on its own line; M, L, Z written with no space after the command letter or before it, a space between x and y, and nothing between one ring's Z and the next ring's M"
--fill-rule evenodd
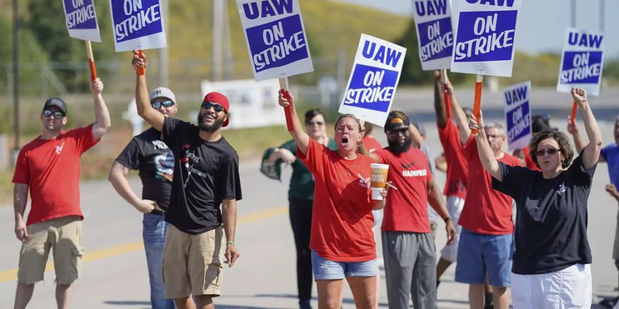
M361 34L339 113L384 126L398 86L406 48Z

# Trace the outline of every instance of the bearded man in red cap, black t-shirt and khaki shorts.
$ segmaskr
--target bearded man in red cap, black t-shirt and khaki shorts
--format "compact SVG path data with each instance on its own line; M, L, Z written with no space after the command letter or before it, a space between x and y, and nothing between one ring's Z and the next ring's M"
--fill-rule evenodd
M221 135L221 127L228 125L228 98L208 93L197 126L164 117L151 108L146 76L139 73L146 69L146 56L133 52L132 65L138 71L138 115L162 133L175 157L165 215L169 225L163 254L164 296L174 299L180 309L215 308L213 297L220 295L222 264L232 267L239 258L235 247L237 201L241 199L239 156Z

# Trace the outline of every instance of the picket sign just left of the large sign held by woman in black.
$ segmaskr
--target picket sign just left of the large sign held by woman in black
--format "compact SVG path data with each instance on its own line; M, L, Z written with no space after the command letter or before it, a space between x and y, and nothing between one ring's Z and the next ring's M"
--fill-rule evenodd
M449 69L453 54L451 0L413 0L413 19L422 69Z

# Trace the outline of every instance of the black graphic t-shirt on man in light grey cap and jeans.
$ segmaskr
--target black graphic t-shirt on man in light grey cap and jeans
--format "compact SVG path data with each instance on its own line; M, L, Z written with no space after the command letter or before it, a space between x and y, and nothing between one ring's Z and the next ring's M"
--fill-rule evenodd
M116 161L131 170L139 170L142 179L142 198L156 201L161 209L168 210L174 155L160 139L161 133L149 128L131 139Z

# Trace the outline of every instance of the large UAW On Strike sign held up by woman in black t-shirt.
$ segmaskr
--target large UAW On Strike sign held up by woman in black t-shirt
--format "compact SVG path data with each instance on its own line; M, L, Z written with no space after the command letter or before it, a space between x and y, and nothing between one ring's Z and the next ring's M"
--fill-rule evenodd
M458 0L451 71L512 76L521 0Z

